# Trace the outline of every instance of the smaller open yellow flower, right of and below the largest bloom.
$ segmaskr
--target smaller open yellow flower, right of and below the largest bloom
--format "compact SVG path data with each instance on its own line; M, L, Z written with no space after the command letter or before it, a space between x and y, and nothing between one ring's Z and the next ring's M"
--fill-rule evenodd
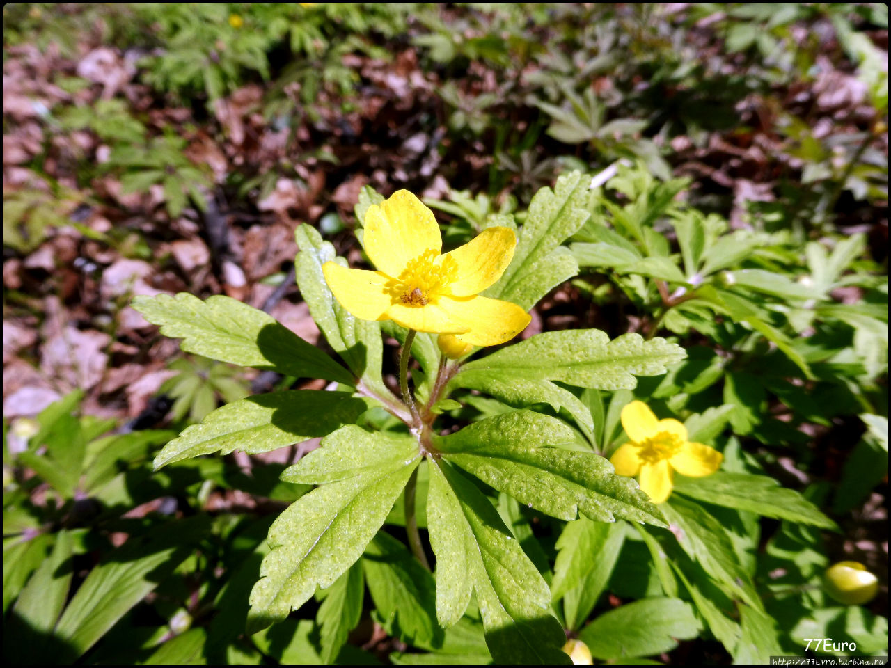
M674 471L683 476L708 476L721 466L723 455L708 445L687 440L687 428L677 420L657 420L650 407L632 402L622 409L622 427L631 439L609 458L619 476L640 474L641 489L655 503L672 490Z

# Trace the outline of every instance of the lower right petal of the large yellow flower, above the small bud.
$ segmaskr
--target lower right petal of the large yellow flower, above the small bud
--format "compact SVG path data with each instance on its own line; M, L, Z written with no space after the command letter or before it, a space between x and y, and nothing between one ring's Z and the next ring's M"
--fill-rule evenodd
M489 297L439 297L438 303L454 322L461 322L465 330L458 340L473 346L497 346L514 338L526 329L532 318L511 302Z

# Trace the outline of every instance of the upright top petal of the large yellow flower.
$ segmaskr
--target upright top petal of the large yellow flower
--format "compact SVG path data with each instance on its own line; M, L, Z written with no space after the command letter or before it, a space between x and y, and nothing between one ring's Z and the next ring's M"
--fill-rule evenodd
M365 252L381 272L398 278L409 260L442 249L433 212L409 191L396 191L365 213Z

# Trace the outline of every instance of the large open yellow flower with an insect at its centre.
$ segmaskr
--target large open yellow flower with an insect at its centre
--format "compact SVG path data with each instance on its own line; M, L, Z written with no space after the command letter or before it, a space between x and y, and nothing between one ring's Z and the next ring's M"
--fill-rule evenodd
M365 252L378 271L326 262L334 297L363 320L392 320L409 330L452 334L462 344L495 346L529 324L516 304L480 297L511 264L517 240L490 227L461 248L441 254L433 212L409 191L368 208Z

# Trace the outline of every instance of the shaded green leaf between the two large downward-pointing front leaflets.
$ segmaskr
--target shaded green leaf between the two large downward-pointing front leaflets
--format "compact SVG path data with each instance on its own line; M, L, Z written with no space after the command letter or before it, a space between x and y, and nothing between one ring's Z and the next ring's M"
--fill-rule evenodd
M405 545L379 532L365 549L362 565L368 590L388 633L413 647L441 647L444 635L437 623L433 575Z

